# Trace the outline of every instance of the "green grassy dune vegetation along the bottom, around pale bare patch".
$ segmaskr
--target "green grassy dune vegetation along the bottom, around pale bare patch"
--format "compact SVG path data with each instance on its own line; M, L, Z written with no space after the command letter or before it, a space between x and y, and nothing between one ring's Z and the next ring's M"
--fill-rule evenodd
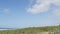
M29 27L16 30L0 30L0 34L38 34L38 32L54 32L54 34L60 34L60 26Z

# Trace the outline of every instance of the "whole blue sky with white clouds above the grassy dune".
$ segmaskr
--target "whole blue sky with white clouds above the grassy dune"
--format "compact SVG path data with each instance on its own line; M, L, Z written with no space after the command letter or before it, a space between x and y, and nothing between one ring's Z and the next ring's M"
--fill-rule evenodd
M0 0L0 27L24 28L60 24L60 0Z

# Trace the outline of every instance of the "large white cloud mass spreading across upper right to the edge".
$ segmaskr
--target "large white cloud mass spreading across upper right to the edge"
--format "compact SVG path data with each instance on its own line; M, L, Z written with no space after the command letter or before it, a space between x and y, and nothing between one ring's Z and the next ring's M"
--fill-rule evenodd
M49 11L51 4L53 4L57 7L59 6L58 8L60 8L60 0L34 0L34 2L35 2L35 4L32 5L32 7L29 7L27 9L27 12L32 13L32 14L47 12L47 11ZM55 10L56 11L58 10L57 13L60 12L60 9L54 9L54 11L53 11L54 14L56 12Z

